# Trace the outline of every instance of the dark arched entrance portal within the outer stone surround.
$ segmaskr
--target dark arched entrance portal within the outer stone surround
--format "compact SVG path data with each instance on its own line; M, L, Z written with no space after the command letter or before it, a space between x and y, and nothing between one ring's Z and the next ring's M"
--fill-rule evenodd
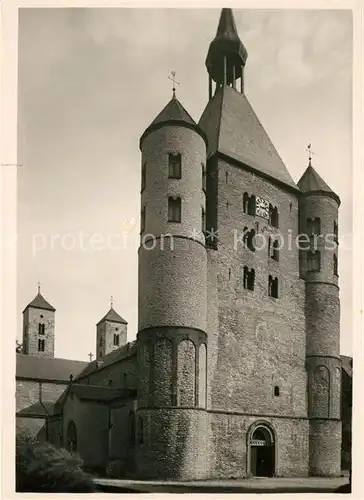
M263 425L251 434L250 472L257 477L273 477L275 470L275 443L272 431Z

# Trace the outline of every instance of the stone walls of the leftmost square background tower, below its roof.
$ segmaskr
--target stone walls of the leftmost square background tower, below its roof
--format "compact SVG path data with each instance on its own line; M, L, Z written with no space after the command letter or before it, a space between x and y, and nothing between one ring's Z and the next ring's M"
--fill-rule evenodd
M28 307L23 315L24 354L44 358L54 357L54 311ZM39 323L45 325L44 335L39 335ZM38 340L44 340L44 351L38 351Z

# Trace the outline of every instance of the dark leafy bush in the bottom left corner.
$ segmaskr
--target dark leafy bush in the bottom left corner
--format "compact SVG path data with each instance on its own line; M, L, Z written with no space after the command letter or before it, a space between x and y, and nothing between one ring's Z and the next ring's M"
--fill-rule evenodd
M82 460L64 448L21 435L16 440L16 491L92 493L97 488L82 470Z

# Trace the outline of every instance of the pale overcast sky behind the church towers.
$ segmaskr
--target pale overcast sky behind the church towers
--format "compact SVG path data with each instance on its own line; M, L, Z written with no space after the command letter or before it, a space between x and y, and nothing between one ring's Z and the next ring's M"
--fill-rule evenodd
M173 69L179 100L199 119L219 12L20 9L19 339L38 280L57 309L56 356L95 353L110 295L135 339L139 137L170 99ZM293 179L311 142L314 167L341 198L341 350L351 355L351 12L234 13L249 54L245 92ZM128 248L110 248L123 230Z

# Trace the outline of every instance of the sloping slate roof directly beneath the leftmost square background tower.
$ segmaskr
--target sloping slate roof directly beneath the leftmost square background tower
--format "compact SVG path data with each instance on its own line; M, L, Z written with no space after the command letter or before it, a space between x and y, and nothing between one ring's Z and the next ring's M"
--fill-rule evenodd
M17 354L16 378L69 382L70 375L75 378L88 364L87 361L73 359L41 358Z

